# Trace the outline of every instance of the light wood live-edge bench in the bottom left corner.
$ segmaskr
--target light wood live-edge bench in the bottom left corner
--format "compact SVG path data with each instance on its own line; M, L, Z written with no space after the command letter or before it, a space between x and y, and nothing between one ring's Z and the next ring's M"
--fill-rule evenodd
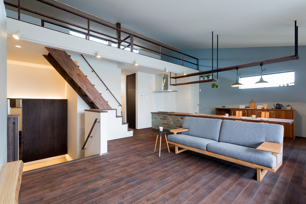
M0 171L0 203L18 203L23 162L21 160L2 165Z

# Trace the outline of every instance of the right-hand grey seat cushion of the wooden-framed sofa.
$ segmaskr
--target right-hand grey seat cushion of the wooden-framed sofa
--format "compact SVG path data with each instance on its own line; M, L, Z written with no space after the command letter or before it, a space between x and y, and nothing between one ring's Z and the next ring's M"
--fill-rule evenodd
M276 166L276 158L272 153L251 147L244 147L225 142L214 142L207 144L207 151L268 168L274 168Z

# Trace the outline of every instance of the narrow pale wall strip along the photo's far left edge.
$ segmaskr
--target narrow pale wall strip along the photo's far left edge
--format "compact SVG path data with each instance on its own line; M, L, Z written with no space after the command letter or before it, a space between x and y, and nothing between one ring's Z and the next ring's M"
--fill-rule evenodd
M6 144L6 12L0 1L0 169L7 161Z

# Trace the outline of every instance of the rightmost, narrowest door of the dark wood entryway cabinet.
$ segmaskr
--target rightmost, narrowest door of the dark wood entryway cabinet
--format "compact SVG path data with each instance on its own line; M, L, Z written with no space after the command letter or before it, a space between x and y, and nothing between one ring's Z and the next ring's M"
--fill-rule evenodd
M54 156L67 154L67 100L54 103Z

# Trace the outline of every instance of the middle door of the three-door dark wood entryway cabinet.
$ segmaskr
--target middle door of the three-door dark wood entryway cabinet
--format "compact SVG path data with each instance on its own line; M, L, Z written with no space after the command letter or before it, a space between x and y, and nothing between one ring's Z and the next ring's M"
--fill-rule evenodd
M54 156L54 101L40 99L39 159Z

